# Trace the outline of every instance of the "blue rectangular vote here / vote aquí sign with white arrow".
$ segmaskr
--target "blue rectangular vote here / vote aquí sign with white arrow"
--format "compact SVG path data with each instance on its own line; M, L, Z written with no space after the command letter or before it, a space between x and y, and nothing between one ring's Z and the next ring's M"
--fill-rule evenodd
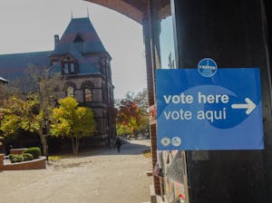
M156 71L158 150L264 149L259 69L214 67Z

